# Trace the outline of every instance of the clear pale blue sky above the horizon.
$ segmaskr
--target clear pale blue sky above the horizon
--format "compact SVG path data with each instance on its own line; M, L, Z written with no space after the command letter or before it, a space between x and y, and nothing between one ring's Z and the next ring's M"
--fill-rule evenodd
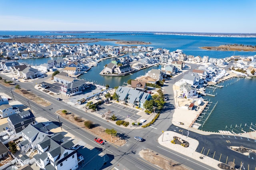
M256 33L256 0L1 0L0 30Z

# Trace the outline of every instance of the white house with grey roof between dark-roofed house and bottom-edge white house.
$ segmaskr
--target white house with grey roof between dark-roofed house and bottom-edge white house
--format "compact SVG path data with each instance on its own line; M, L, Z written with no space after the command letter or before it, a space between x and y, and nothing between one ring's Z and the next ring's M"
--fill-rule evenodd
M40 123L42 124L42 123ZM29 149L36 148L36 145L44 139L45 136L52 136L53 133L49 132L47 128L43 128L42 131L36 128L36 125L28 125L22 131L22 142L18 143L18 146L22 152L28 152Z

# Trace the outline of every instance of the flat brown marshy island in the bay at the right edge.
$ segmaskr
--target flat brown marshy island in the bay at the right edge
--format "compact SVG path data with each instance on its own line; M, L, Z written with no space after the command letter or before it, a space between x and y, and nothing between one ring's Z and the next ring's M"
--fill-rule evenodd
M200 47L201 49L206 50L215 50L215 51L256 51L256 45L243 45L243 44L231 44L231 45L220 45L218 47Z

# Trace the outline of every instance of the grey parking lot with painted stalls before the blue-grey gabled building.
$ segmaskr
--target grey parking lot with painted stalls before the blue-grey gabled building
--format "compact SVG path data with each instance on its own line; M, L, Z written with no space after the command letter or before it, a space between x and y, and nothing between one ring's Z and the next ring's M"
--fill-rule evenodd
M129 115L130 119L133 121L137 121L141 118L140 115L136 115L136 113L138 113L138 110L117 103L112 103L111 105L100 105L100 109L96 111L96 113L100 115L104 115L107 112L110 112L110 115L114 114L119 120L124 120L128 118Z

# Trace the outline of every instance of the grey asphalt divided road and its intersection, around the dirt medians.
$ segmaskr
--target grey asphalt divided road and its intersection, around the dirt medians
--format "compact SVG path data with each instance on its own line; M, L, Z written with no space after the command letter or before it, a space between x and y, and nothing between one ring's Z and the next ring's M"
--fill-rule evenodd
M178 79L180 78L181 76L176 77L176 81L178 81ZM32 110L34 111L34 115L36 117L45 117L50 121L58 122L55 111L57 111L58 109L66 109L73 113L76 113L79 116L84 117L85 119L89 119L104 128L118 129L119 133L124 133L127 136L127 144L122 147L107 144L107 153L112 160L108 162L104 169L111 169L118 166L120 167L121 165L130 169L134 169L133 167L131 167L131 165L134 165L136 168L139 169L159 169L155 165L146 162L138 156L138 152L143 148L149 148L154 152L171 158L172 160L179 162L184 166L190 167L191 169L212 169L212 167L206 164L202 164L201 162L194 161L191 158L183 156L178 152L174 152L172 150L169 150L168 148L160 147L157 142L157 138L160 136L162 130L168 129L168 127L171 125L172 114L174 112L174 100L171 100L173 99L172 83L174 83L174 80L170 80L166 83L168 84L168 86L165 86L165 93L169 96L170 100L168 101L168 105L166 105L166 108L164 109L164 113L160 115L158 121L156 121L156 123L152 127L143 128L140 130L130 130L109 124L104 120L99 120L98 117L94 117L94 115L91 115L90 113L86 113L79 109L70 107L63 101L56 101L55 97L51 97L41 91L35 90L34 85L36 85L36 83L39 84L40 79L32 83L19 83L22 88L30 89L32 93L35 93L52 103L52 105L49 107L42 107L40 105L37 105L33 101L30 101L30 106L32 107ZM3 93L7 93L8 95L12 96L12 94L10 93L10 88L3 87L2 85L0 85L0 88L2 88L1 90L3 91ZM28 105L28 103L26 102L26 98L24 98L22 95L14 93L14 97L21 103ZM98 145L94 142L93 139L95 136L93 134L76 127L76 125L73 125L65 119L62 119L61 122L62 127L71 134L77 136L78 138L81 138L84 142L90 144L91 146L104 149L104 146ZM141 136L146 141L137 142L136 140L133 140L134 136Z

